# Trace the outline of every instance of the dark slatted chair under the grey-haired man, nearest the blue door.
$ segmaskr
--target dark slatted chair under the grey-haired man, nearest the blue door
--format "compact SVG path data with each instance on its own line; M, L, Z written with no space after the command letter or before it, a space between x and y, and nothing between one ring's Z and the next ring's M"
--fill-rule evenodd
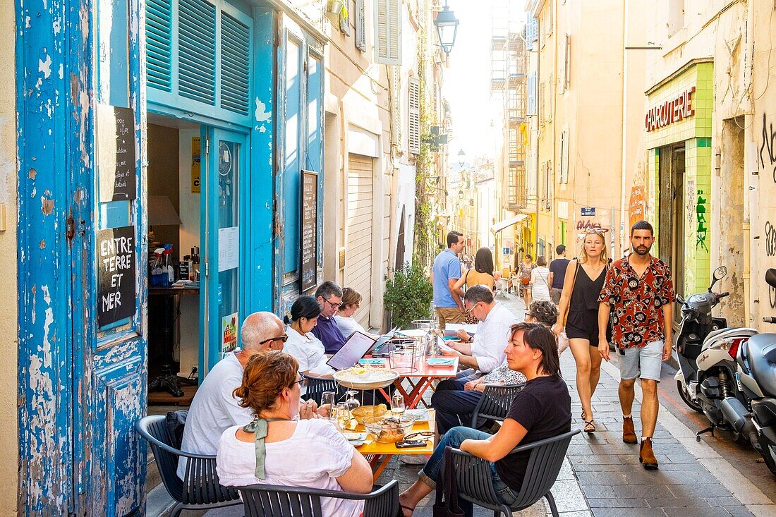
M218 482L216 456L184 453L171 446L165 415L140 418L135 429L151 445L161 481L170 497L176 501L170 517L177 517L183 510L206 510L240 504L237 491L223 487ZM189 459L183 480L176 473L180 457Z

